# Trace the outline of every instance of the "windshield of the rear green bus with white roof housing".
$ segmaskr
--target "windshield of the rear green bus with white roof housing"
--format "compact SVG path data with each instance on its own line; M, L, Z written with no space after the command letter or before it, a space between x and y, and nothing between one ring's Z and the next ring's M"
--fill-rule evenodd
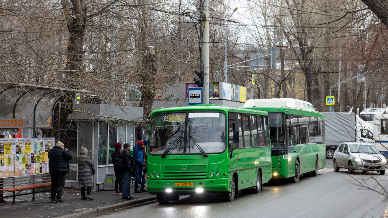
M269 133L272 149L285 149L285 116L282 113L268 113Z

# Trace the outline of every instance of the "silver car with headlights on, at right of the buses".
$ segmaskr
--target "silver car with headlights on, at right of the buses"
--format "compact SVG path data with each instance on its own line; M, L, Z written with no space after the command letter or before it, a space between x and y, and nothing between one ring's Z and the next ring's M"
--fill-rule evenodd
M381 175L385 174L386 159L374 147L365 142L344 142L334 151L333 167L334 171L345 168L354 174L355 170L377 171Z

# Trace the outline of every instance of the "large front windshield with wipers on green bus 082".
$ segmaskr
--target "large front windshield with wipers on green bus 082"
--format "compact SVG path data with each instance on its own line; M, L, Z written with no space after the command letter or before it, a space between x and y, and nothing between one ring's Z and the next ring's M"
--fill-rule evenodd
M156 114L151 120L148 151L152 155L223 152L226 149L225 122L225 114L220 112Z

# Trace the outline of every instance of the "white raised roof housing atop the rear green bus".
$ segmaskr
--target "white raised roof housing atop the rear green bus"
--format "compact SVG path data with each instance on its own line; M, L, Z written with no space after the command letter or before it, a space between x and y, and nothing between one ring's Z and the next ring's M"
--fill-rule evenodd
M299 99L249 99L242 107L289 107L305 111L314 111L310 102Z

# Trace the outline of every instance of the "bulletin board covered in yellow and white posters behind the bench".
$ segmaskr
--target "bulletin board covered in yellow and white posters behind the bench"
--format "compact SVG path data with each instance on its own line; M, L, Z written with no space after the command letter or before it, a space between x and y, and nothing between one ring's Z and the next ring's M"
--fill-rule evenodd
M49 172L54 138L0 139L0 178Z

